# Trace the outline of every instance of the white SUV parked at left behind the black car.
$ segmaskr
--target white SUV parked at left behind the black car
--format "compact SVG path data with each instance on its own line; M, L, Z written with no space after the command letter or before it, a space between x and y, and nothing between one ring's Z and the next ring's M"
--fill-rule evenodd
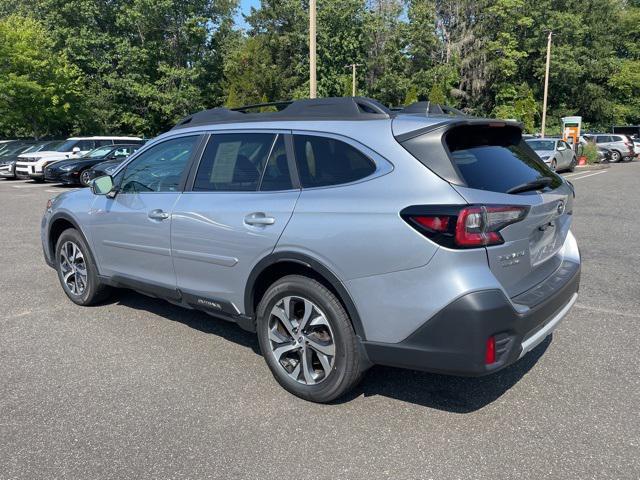
M116 143L142 143L139 137L71 137L55 151L25 153L16 162L16 176L44 181L44 167L59 160L81 157L90 150Z

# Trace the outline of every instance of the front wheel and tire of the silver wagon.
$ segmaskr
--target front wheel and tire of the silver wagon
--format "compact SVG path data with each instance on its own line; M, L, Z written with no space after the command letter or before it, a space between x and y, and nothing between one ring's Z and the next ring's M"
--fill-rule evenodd
M55 261L60 285L73 303L95 305L109 296L110 289L100 283L91 251L76 229L69 228L60 235Z

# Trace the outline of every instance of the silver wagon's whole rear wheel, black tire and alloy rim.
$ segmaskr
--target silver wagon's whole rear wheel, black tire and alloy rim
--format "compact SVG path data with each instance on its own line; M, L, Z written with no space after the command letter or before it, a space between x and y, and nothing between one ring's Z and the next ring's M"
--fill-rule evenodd
M307 311L306 325L298 329ZM256 327L271 373L293 395L330 402L351 390L362 377L351 321L336 296L316 280L290 275L271 285L258 305ZM283 349L285 353L281 353Z

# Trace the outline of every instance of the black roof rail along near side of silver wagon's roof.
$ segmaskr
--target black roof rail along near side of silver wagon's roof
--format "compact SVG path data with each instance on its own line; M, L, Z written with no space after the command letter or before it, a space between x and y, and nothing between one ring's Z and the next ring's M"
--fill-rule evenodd
M274 106L276 112L248 112ZM329 97L258 103L243 107L212 108L180 120L173 129L196 125L282 120L372 120L390 118L392 112L381 103L365 97Z

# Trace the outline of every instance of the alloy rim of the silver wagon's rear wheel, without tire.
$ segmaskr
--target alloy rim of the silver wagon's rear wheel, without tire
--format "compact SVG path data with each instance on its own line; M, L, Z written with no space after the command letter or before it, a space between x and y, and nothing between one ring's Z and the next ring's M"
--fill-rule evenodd
M315 385L331 374L333 331L325 314L306 298L287 296L273 306L269 345L279 368L298 383Z

